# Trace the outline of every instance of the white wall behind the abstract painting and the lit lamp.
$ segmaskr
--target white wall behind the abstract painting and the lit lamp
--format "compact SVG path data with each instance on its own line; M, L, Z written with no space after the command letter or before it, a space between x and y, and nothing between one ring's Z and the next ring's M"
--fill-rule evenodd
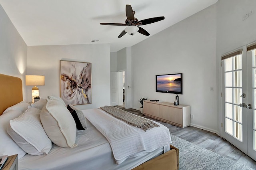
M110 45L46 45L28 47L28 74L45 75L45 86L39 86L40 97L60 96L60 60L92 63L92 104L80 109L110 105ZM28 100L31 98L28 86Z

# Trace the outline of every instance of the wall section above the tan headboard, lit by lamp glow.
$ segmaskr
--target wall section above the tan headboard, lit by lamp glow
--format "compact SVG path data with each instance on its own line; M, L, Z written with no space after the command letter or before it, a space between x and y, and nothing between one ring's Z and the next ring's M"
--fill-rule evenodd
M26 101L27 45L0 5L0 73L20 77Z

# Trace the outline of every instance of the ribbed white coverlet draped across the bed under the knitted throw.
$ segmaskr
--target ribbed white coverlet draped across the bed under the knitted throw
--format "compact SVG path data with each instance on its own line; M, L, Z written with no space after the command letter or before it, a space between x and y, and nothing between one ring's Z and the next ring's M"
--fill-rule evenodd
M144 132L102 109L85 110L84 115L107 138L117 164L121 164L128 157L135 157L171 143L169 129L164 126Z

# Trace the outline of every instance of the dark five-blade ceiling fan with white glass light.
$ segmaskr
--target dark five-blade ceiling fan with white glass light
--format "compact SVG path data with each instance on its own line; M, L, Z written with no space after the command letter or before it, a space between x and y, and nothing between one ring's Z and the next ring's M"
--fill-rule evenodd
M145 20L138 20L134 17L135 11L132 10L132 6L126 5L126 17L125 24L118 24L118 23L100 23L101 25L109 25L109 26L127 26L123 32L118 36L121 38L124 34L128 33L130 35L134 35L136 32L143 34L145 36L149 36L150 34L139 26L143 26L146 24L151 24L154 22L158 22L164 20L164 16L148 18Z

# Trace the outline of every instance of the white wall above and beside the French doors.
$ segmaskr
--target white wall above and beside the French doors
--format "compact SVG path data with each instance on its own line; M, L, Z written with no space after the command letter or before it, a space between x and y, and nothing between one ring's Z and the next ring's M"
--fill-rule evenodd
M217 2L217 84L218 103L217 113L220 116L218 127L222 123L221 103L221 55L241 46L256 41L256 1L255 0L218 0ZM242 20L244 14L254 13L246 20ZM246 51L243 51L246 52ZM221 132L221 130L220 130Z

